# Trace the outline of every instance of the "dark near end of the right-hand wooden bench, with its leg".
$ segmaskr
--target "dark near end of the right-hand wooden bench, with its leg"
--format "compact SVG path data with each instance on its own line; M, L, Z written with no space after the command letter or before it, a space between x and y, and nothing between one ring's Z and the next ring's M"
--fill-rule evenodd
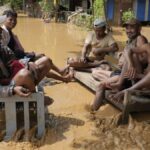
M129 113L150 111L150 91L126 91L122 103L117 103L108 98L109 91L105 92L105 99L114 107L122 111L120 122L128 123Z

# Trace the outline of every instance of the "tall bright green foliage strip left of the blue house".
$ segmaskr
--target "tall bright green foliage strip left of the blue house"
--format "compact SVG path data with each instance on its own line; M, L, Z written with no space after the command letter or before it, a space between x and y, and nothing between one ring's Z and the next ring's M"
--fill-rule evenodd
M104 17L104 0L95 0L93 9L94 9L94 19Z

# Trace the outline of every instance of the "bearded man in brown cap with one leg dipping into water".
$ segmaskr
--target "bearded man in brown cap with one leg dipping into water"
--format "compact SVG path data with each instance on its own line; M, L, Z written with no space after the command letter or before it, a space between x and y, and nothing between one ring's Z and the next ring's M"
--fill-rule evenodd
M141 35L141 24L138 20L136 19L131 19L129 21L127 21L125 23L125 28L126 28L126 34L128 36L128 41L126 43L126 46L124 48L123 51L123 56L124 56L124 63L123 63L123 67L121 69L121 74L119 75L119 78L117 78L117 80L114 79L111 81L106 81L107 84L104 83L100 83L100 85L98 86L97 90L96 90L96 96L94 99L93 104L91 105L91 109L92 110L98 110L102 105L103 105L103 100L104 100L104 93L106 89L114 89L117 88L119 90L121 89L126 89L128 87L125 87L127 84L123 84L123 82L125 81L124 75L125 73L128 71L128 63L127 60L129 60L127 58L127 53L129 50L135 48L135 47L139 47L144 45L145 43L147 43L147 39ZM143 65L145 65L146 61L145 61L145 55L142 56L137 56L137 55L133 55L133 60L135 62L135 64L137 66L139 66L138 64L143 62ZM139 60L139 61L137 61ZM140 67L138 67L139 71ZM132 74L132 73L131 73ZM115 76L113 78L116 78ZM128 86L128 85L127 85ZM131 85L130 85L131 86ZM133 85L134 87L135 85ZM120 96L120 94L116 94L113 99L115 100L116 98L118 98L118 96Z

